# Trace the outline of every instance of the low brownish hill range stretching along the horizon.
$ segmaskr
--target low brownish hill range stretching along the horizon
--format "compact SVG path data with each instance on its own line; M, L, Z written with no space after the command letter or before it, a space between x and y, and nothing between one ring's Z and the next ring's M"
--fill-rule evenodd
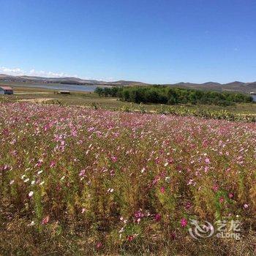
M3 75L0 74L0 82L13 83L65 83L78 85L99 85L99 86L147 86L148 83L141 83L138 81L118 80L113 82L99 81L99 80L85 80L80 78L42 78L28 75ZM256 91L256 82L243 83L235 81L232 83L173 83L165 84L165 86L182 87L187 89L203 89L213 91L240 91L250 93Z

